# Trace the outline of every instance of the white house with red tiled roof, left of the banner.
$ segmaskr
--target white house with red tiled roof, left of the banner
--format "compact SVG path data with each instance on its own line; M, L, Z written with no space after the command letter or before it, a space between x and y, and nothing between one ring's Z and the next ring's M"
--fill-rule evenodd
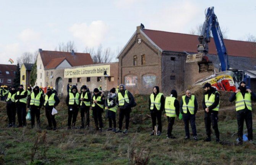
M48 87L49 85L59 94L63 93L66 85L63 84L64 69L94 64L89 53L47 51L39 49L37 56L36 85ZM65 87L64 87L65 86Z

